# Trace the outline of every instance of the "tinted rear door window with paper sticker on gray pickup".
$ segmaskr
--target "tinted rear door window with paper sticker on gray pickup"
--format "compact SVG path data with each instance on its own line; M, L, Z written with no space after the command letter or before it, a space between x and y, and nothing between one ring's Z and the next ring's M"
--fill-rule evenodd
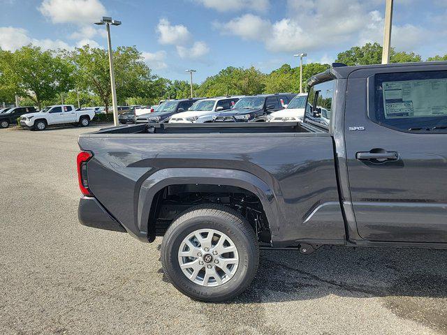
M376 75L369 119L398 131L447 129L447 71Z

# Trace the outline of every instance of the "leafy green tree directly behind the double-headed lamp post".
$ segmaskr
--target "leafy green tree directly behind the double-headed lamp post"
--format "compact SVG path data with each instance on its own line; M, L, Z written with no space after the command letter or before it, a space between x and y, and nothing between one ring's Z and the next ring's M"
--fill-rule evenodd
M85 45L71 53L70 58L76 67L80 89L96 94L108 110L112 101L108 52ZM124 104L128 98L156 98L156 77L135 47L117 47L113 61L118 103Z

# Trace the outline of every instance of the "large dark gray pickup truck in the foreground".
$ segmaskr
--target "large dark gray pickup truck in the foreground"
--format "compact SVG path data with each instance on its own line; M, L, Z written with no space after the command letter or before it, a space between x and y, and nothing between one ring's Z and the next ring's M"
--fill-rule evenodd
M260 248L447 248L447 62L333 64L308 84L302 123L80 135L80 222L164 236L165 274L204 301L247 288Z

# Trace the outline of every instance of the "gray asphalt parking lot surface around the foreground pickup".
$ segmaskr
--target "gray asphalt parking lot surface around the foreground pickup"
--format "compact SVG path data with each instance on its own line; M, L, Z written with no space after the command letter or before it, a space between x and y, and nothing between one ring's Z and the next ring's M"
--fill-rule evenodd
M447 334L447 251L263 251L247 292L193 301L160 239L78 223L79 133L0 130L0 334Z

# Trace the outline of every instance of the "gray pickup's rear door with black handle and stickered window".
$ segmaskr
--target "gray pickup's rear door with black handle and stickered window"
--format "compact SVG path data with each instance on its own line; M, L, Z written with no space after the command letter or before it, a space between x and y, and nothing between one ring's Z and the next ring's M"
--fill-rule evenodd
M345 138L358 233L447 243L447 66L360 70Z

